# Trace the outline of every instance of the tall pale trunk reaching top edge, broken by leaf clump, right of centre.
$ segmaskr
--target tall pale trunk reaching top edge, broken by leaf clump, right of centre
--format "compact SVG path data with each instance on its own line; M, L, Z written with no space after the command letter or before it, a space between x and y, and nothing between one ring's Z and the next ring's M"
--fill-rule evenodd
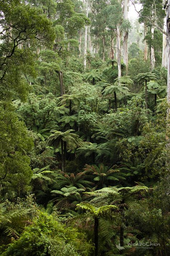
M127 20L128 0L124 0L123 18ZM128 31L123 32L123 62L126 65L126 74L128 72Z

